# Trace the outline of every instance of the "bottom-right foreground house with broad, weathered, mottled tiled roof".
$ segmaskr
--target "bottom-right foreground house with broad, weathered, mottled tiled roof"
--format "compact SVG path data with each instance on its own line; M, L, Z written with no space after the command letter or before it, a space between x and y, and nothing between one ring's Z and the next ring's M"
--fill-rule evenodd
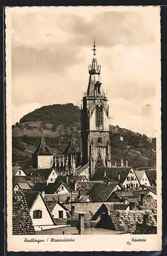
M156 233L157 222L151 210L136 210L132 204L127 209L113 209L110 203L103 203L91 218L96 227L127 231L130 233Z

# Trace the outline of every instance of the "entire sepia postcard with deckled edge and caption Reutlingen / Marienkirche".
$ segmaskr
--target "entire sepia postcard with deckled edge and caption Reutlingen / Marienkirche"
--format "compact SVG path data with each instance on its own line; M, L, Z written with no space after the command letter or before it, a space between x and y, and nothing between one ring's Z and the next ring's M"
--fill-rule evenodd
M160 7L5 23L8 250L161 250Z

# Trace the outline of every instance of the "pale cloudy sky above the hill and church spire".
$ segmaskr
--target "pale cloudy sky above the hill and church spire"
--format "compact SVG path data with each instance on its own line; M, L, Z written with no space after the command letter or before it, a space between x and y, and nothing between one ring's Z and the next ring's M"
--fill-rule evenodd
M160 90L158 7L10 10L13 123L43 105L81 106L96 40L110 124L155 136Z

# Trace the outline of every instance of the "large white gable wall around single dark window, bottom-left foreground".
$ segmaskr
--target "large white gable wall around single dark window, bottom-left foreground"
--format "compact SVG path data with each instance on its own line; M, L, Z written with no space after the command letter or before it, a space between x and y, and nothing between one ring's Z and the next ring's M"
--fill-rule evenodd
M40 219L33 219L33 211L34 210L42 210L42 218ZM30 210L30 215L32 218L32 222L34 226L41 226L41 225L54 225L51 216L49 214L49 212L46 209L46 206L40 196L40 194L38 195L34 205L32 206L31 210Z

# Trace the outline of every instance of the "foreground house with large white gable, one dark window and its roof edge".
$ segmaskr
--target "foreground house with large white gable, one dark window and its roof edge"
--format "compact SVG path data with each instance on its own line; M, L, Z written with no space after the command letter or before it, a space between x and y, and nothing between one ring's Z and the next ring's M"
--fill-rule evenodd
M52 228L55 223L41 193L26 191L25 197L35 230Z

